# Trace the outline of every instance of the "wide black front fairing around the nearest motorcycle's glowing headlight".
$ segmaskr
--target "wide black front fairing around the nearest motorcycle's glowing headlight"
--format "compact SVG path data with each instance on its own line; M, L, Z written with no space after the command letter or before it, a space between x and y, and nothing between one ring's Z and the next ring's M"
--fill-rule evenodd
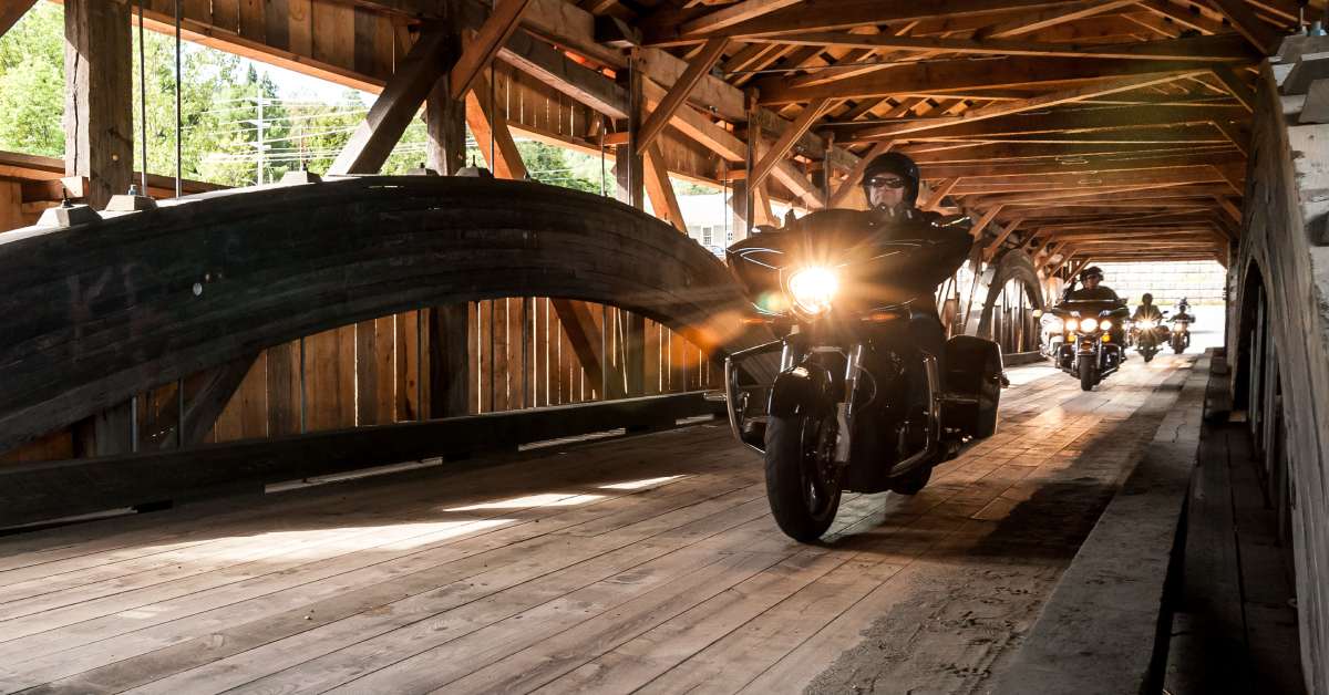
M789 274L823 267L839 279L837 307L865 311L930 298L969 251L964 231L872 226L869 219L856 210L812 213L731 246L730 268L759 308L779 304L771 299L783 294Z

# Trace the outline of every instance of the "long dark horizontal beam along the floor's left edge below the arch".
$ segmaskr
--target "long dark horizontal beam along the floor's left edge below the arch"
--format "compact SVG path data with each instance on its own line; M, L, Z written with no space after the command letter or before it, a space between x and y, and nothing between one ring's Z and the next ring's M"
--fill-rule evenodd
M439 456L513 450L532 441L617 428L671 427L680 417L714 413L715 405L700 395L627 399L582 408L528 409L368 429L315 432L311 427L311 433L303 437L249 440L194 450L15 464L0 469L0 481L9 493L7 506L0 509L0 525L169 500L255 493L262 492L263 484Z

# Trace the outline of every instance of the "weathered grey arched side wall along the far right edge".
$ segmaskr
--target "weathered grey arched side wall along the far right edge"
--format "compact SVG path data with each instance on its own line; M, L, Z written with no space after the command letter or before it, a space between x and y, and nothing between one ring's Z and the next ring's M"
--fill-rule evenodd
M1280 94L1290 70L1305 73L1301 53L1329 49L1296 45L1305 41L1261 68L1227 346L1236 412L1289 522L1306 690L1329 692L1329 247L1318 238L1329 125L1302 124L1305 97Z

